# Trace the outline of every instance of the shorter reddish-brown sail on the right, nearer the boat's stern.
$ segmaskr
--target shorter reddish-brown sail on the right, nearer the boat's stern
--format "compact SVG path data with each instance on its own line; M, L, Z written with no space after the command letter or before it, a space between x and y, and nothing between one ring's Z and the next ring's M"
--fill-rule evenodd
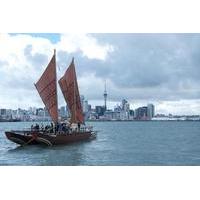
M84 123L74 58L64 76L59 80L59 85L71 113L71 123Z

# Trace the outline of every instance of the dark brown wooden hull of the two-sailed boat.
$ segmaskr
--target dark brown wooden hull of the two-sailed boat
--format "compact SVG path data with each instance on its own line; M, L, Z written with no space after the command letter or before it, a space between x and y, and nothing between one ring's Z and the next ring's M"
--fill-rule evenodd
M33 145L45 144L52 145L65 145L82 140L90 140L96 137L92 131L87 132L73 132L71 134L43 134L41 132L5 132L6 137L19 145Z

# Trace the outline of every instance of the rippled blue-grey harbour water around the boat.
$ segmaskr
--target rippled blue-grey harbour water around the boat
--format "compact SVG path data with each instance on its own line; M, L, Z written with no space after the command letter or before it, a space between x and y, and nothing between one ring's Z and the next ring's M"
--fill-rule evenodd
M200 165L200 122L90 122L96 140L65 146L18 147L5 130L29 122L0 123L0 165Z

